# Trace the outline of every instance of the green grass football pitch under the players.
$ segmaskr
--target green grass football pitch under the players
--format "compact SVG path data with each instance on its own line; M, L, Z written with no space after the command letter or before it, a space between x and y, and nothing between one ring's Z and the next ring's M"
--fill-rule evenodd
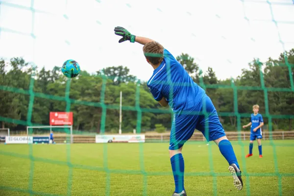
M188 196L294 195L293 140L274 141L275 147L263 141L264 158L258 157L257 143L253 156L246 159L248 142L232 144L244 189L233 186L228 164L214 143L190 142L183 148ZM0 145L0 196L171 196L174 182L168 146Z

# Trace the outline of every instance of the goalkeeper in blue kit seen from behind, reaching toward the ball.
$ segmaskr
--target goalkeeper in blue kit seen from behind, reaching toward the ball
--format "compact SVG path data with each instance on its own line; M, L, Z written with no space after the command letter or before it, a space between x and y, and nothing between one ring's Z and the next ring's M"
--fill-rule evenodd
M184 188L184 158L182 148L197 129L207 141L214 141L227 160L238 190L243 189L241 171L233 147L225 136L216 108L205 91L199 87L183 66L159 43L132 35L123 27L115 27L122 36L119 43L130 41L144 45L143 52L154 72L147 82L149 91L162 106L170 105L173 122L170 136L170 159L175 184L172 196L187 196ZM204 115L206 111L207 115ZM206 131L207 130L207 131Z

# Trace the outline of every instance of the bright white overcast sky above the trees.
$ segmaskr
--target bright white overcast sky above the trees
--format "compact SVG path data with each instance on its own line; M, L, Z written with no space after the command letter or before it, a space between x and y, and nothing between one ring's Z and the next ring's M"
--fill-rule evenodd
M158 41L174 56L188 53L220 79L240 75L254 57L266 61L294 48L294 0L0 2L0 57L22 56L47 70L74 59L89 73L123 65L148 80L153 70L142 45L119 44L115 26Z

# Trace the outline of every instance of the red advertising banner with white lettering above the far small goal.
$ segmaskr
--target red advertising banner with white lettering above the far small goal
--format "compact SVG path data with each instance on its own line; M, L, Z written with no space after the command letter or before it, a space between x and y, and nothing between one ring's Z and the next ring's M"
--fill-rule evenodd
M73 112L50 112L50 125L73 125Z

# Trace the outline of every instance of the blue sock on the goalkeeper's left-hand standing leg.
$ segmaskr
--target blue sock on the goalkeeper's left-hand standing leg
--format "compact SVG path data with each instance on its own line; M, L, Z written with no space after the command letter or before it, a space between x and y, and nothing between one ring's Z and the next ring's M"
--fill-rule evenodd
M184 189L184 158L182 153L178 153L172 156L172 173L175 185L175 193L181 193Z

